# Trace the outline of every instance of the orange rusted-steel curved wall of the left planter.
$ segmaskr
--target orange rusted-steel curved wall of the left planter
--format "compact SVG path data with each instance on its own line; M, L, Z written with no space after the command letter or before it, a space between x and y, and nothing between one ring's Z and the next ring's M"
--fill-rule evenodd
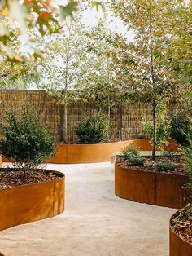
M64 210L64 174L44 182L0 190L0 230L58 215Z

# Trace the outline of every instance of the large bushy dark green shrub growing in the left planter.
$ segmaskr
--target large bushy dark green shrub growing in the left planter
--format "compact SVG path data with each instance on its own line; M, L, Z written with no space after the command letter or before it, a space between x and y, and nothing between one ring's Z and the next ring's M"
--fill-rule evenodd
M48 133L43 116L27 102L18 111L11 109L0 125L0 154L14 166L37 168L55 153L55 139Z

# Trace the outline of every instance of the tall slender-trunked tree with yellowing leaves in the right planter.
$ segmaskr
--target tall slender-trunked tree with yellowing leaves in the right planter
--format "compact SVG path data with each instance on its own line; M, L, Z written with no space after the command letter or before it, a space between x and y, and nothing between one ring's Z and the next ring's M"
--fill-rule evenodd
M156 151L156 119L159 103L172 99L183 86L172 65L172 41L176 38L178 10L187 11L184 1L113 1L112 8L127 29L133 29L134 42L128 45L130 83L125 96L134 102L149 103L153 115L153 159ZM164 22L162 22L164 20ZM176 26L177 24L177 26ZM188 23L190 26L190 24Z

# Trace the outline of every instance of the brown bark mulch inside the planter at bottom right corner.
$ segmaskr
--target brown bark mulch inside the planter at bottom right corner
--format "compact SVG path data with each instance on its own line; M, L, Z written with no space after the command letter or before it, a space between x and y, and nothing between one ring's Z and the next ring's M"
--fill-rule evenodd
M181 239L192 245L192 205L186 206L173 215L171 227Z

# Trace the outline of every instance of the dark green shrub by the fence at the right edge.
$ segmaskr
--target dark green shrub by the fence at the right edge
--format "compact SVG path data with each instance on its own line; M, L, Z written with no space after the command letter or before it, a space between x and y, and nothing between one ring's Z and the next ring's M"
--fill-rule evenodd
M190 132L190 120L185 116L185 113L173 117L171 121L171 132L172 139L177 141L177 144L185 146L189 144L187 135Z

